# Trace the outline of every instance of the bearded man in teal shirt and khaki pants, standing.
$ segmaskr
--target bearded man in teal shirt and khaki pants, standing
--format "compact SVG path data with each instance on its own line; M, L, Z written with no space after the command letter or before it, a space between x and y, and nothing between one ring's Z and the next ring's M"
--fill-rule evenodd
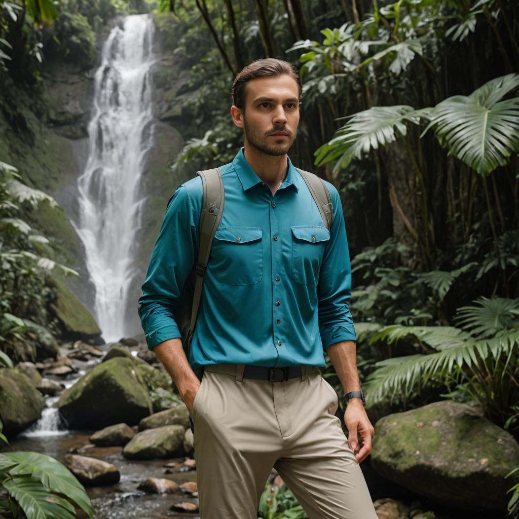
M345 393L361 389L339 195L326 183L328 230L286 155L299 122L298 79L290 63L264 59L234 81L230 112L244 147L220 168L225 206L189 362L174 309L197 257L200 177L170 199L139 299L148 345L194 422L202 519L256 519L273 466L310 519L376 519L359 467L374 429L361 398L351 398L346 440L337 394L317 369L324 348Z

